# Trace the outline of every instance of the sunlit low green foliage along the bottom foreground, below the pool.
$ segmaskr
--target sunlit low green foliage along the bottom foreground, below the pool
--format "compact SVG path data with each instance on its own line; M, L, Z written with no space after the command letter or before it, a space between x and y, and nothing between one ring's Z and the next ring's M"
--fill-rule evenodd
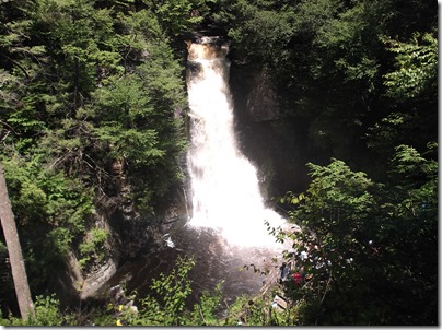
M168 275L160 274L152 281L152 292L140 298L140 307L131 304L108 304L107 308L93 308L86 314L81 311L61 310L55 295L38 296L35 303L35 317L22 320L12 316L1 318L4 326L289 326L293 316L303 306L290 306L287 311L272 311L268 297L239 297L226 310L226 316L220 316L222 282L212 293L201 293L199 302L193 306L186 304L191 293L187 278L195 266L191 258L178 257L175 269ZM135 296L133 296L135 297ZM133 299L133 297L127 297ZM137 304L138 305L138 304ZM84 311L83 311L84 313Z

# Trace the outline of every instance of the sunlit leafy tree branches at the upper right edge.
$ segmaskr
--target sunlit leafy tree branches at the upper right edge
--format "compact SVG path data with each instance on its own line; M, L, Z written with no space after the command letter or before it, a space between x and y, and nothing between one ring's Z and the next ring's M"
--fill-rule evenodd
M416 33L406 42L382 37L395 55L384 74L385 96L392 106L368 129L370 150L377 162L389 158L400 144L423 149L438 139L438 39L434 33ZM381 166L373 166L381 167Z

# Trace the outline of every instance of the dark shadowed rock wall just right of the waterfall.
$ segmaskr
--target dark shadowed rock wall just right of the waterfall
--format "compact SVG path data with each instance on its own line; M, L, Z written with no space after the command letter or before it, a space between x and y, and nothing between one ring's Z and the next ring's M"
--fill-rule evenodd
M233 61L230 89L240 148L258 168L264 196L304 190L309 185L305 163L319 153L306 139L309 126L303 119L283 115L268 69Z

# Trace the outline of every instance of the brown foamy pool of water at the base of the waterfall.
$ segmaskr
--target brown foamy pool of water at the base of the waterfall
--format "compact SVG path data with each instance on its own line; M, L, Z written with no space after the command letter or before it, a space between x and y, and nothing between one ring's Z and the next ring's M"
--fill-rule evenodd
M237 297L259 294L268 284L277 282L279 266L271 260L276 255L267 248L232 246L217 231L196 228L185 221L174 225L167 240L173 241L173 247L165 246L127 260L102 292L123 284L127 294L136 291L138 297L143 297L151 293L152 279L159 279L160 273L167 275L172 272L178 255L193 257L196 261L188 274L193 290L188 307L199 302L203 291L213 293L221 281L221 310L225 310ZM261 271L268 269L269 272L255 272L254 267Z

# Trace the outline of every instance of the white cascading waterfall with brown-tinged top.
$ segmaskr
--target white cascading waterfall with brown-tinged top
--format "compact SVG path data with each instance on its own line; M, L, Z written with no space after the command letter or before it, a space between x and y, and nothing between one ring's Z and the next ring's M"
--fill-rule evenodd
M205 37L188 45L187 86L191 145L187 155L191 180L193 215L189 224L219 229L229 244L275 246L265 221L284 223L267 209L255 167L241 154L233 127L228 86L228 46Z

